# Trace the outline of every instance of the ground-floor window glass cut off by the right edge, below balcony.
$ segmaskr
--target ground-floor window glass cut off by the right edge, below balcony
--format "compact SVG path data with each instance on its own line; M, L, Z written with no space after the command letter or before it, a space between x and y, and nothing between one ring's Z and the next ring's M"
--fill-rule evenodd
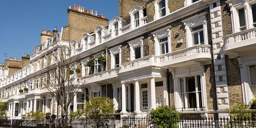
M250 85L253 97L256 96L256 65L249 66Z

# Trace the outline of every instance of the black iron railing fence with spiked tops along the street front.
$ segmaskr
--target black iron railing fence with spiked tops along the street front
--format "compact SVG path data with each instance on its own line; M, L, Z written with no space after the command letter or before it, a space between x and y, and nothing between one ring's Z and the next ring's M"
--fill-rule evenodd
M171 118L164 121L166 128L255 128L255 118ZM136 117L134 114L122 118L80 118L57 120L0 120L0 126L13 128L155 128L150 115Z

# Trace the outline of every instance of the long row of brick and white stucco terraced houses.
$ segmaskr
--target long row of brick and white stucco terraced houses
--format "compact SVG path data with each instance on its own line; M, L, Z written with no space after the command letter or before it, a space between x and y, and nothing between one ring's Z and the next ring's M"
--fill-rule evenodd
M121 116L175 105L184 116L220 117L256 95L256 0L119 0L111 20L78 5L67 12L68 26L42 30L28 64L0 79L10 119L38 109L60 115L40 66L53 62L56 42L79 55L72 68L87 81L70 112L94 95L112 98ZM97 62L101 55L106 63Z

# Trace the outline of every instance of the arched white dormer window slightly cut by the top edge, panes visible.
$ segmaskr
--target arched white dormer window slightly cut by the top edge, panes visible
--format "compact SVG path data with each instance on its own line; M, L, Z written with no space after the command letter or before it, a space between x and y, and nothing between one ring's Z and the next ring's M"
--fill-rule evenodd
M165 15L168 15L170 10L168 8L168 0L157 0L155 2L154 20L157 20Z

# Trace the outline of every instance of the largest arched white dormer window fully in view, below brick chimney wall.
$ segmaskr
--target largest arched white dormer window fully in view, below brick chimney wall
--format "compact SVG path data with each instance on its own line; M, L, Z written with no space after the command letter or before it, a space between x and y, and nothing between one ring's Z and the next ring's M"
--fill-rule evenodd
M143 7L135 5L132 7L132 9L129 12L130 17L131 17L131 28L136 28L144 25L144 21L142 18L144 17L143 15Z

